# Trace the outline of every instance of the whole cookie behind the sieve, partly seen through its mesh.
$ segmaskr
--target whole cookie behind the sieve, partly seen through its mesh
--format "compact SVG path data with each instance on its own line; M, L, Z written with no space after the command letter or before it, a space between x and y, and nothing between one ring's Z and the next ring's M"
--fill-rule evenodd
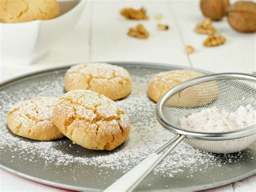
M205 74L192 70L171 70L159 73L150 81L147 94L154 102L157 102L166 91L177 84L203 75ZM218 91L216 82L200 83L179 91L167 101L167 104L185 108L203 106L214 101Z

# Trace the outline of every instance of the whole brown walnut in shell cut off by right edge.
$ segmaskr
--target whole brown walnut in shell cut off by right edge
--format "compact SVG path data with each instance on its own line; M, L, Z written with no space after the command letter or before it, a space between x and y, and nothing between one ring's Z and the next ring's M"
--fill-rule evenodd
M228 10L228 23L233 29L252 33L256 31L256 3L237 2Z

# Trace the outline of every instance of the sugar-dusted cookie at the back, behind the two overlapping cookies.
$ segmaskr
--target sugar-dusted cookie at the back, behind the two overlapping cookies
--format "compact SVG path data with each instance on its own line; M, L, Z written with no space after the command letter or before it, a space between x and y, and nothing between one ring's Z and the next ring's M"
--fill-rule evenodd
M124 98L131 93L132 81L123 67L108 63L84 63L71 67L65 74L66 91L87 89L112 100Z

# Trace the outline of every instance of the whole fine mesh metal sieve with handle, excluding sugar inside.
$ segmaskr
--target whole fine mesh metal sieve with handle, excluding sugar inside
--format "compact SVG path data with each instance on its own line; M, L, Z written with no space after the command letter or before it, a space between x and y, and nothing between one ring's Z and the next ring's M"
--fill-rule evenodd
M159 123L176 134L176 137L120 177L106 191L132 191L182 140L195 148L213 153L244 150L256 139L256 125L230 132L194 132L181 129L180 118L213 106L233 112L240 105L247 104L256 108L254 75L206 75L173 87L159 99L156 116ZM162 151L164 152L161 153Z

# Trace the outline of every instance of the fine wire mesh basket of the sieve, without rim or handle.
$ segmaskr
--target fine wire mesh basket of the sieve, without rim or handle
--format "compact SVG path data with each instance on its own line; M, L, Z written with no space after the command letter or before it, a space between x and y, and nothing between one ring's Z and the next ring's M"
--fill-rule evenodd
M247 104L251 104L256 108L255 81L222 78L201 82L178 91L163 102L162 111L163 116L171 126L181 129L180 118L187 117L194 112L199 112L213 106L217 106L220 110L234 112L240 105ZM255 127L252 127L252 129L255 129ZM219 134L220 137L221 134ZM244 150L255 139L256 134L254 133L235 139L226 139L226 137L223 137L221 140L201 140L186 137L185 142L207 152L232 153Z

